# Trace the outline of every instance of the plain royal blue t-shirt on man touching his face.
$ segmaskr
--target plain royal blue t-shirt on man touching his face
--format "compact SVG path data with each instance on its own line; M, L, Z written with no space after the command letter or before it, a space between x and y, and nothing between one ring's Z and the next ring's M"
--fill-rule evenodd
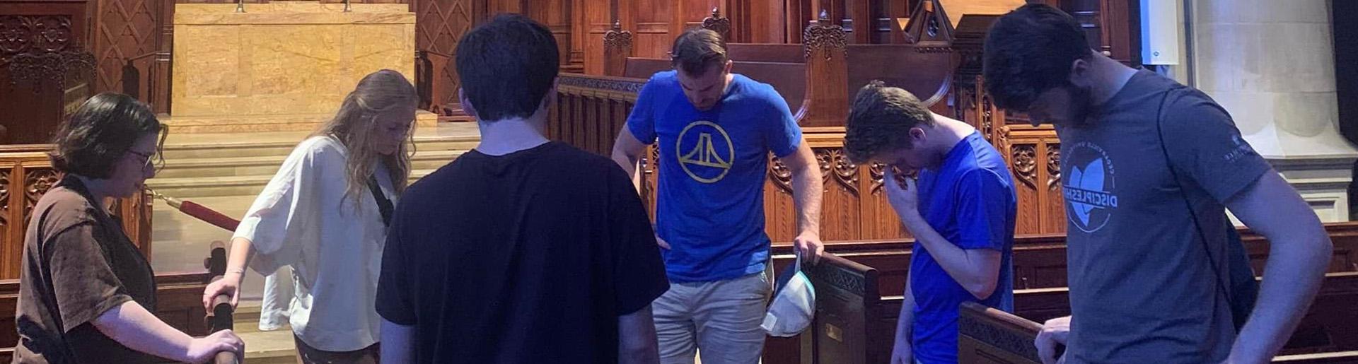
M957 363L957 306L976 302L1013 311L1013 266L1017 197L1004 156L980 133L957 143L937 170L919 171L919 215L938 235L961 249L1001 253L999 281L989 297L967 292L921 244L910 261L915 299L911 348L923 364Z

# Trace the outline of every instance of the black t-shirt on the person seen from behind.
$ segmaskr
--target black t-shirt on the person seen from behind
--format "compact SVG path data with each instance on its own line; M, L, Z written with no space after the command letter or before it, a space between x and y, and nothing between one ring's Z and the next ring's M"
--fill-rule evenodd
M615 363L618 316L668 288L622 168L549 143L470 151L410 186L378 314L414 326L417 363Z

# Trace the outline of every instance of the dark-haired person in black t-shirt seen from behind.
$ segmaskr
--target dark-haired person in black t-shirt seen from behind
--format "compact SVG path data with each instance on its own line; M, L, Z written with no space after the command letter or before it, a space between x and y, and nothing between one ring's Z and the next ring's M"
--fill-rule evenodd
M383 363L659 363L650 302L669 284L641 198L610 159L543 136L557 52L520 15L458 45L481 144L397 206Z

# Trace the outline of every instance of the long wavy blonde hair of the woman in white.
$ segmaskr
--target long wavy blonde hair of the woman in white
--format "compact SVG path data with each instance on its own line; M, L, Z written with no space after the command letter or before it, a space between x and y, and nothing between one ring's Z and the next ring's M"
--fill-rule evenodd
M375 151L373 136L378 134L379 114L397 110L397 107L414 109L418 99L416 87L401 72L391 69L372 72L359 80L353 92L344 98L335 117L312 133L312 136L333 136L349 149L345 162L345 179L348 181L345 198L359 201L359 197L367 193L368 178L376 170L379 159L387 164L387 172L395 192L405 192L406 178L410 175L410 155L413 153L410 145L413 143L401 143L397 152L379 155ZM414 125L411 124L406 140L411 140L413 136Z

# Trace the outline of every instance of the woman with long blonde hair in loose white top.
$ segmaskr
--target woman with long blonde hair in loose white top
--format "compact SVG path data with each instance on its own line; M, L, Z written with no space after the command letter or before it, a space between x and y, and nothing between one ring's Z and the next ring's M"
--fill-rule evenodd
M399 72L363 77L246 212L227 276L206 288L204 306L220 293L235 304L247 263L263 274L288 266L299 363L376 363L378 272L391 209L410 174L416 102Z

